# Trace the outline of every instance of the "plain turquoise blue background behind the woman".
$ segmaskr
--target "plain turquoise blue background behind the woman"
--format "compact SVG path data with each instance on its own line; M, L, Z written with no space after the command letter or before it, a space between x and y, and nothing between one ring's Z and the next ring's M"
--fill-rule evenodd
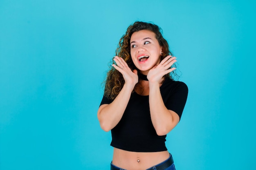
M253 0L0 0L0 169L107 170L97 109L126 28L163 29L189 86L177 170L255 169Z

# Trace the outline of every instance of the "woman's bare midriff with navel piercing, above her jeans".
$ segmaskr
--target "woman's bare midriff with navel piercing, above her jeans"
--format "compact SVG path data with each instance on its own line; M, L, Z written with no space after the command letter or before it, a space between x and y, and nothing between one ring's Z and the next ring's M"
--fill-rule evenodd
M130 152L114 148L112 163L126 170L146 170L168 159L169 152Z

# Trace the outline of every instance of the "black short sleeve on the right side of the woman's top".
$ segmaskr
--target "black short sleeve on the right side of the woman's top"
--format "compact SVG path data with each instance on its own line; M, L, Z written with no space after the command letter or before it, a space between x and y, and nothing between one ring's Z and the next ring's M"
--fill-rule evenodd
M188 86L185 83L175 82L175 86L173 86L165 103L166 108L177 113L180 118L186 104L188 91Z

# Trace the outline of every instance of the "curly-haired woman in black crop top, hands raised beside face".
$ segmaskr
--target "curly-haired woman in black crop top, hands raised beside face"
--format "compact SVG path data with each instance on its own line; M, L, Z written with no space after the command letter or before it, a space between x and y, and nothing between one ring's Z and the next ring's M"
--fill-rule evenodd
M174 81L176 57L161 29L135 22L119 41L98 110L111 130L111 170L175 170L166 134L180 121L188 88Z

